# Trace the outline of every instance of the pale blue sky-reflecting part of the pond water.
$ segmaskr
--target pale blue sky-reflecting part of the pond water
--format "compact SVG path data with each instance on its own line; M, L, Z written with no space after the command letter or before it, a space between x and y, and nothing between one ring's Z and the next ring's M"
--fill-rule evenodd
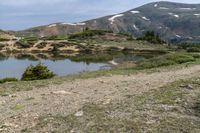
M85 63L85 62L73 62L69 59L64 60L29 60L29 59L16 59L8 58L6 60L0 60L0 78L16 77L21 78L24 70L29 65L37 65L42 63L53 71L58 76L65 76L69 74L76 74L83 71L97 71L104 69L108 66L105 63Z

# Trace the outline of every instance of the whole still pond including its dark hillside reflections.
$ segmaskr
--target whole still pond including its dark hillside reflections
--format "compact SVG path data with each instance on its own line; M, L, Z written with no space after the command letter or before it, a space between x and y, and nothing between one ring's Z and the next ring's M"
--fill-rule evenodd
M42 63L53 71L57 76L77 74L84 71L97 71L111 69L114 64L121 64L126 61L133 63L152 58L153 54L119 54L119 55L79 55L74 58L33 58L30 55L0 56L0 78L15 77L20 79L23 72L29 65Z

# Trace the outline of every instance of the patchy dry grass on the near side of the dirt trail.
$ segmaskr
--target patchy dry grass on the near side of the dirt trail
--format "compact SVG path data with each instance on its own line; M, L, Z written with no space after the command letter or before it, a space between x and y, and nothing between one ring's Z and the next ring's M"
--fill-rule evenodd
M192 85L188 90L184 85ZM86 103L81 117L44 115L29 132L199 132L200 78L180 80L107 105ZM195 108L194 108L195 107ZM51 127L51 128L48 128Z

